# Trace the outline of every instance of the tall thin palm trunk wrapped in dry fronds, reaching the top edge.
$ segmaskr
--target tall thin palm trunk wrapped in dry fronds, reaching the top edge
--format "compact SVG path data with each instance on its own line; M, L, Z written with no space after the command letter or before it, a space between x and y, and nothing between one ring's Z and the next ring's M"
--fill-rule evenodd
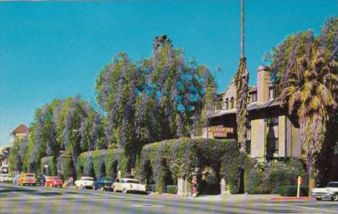
M245 139L247 135L247 100L249 92L249 72L244 57L244 2L241 0L241 53L239 59L238 71L235 74L236 88L236 122L237 122L237 139L240 145L240 151L245 152Z

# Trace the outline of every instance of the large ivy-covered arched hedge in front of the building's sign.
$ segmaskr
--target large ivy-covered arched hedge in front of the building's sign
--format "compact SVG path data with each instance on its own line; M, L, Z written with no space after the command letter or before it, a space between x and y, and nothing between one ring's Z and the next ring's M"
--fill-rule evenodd
M137 175L141 181L155 181L156 191L163 193L178 177L191 180L194 158L199 167L212 167L227 183L228 192L239 190L239 150L235 140L172 139L145 145L138 157ZM172 183L166 183L171 175Z

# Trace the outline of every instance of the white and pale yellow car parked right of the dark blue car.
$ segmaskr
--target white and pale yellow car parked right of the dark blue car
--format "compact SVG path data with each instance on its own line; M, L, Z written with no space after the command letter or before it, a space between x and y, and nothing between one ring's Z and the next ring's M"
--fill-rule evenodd
M122 193L143 193L146 194L145 185L136 179L121 178L119 182L113 184L114 192Z

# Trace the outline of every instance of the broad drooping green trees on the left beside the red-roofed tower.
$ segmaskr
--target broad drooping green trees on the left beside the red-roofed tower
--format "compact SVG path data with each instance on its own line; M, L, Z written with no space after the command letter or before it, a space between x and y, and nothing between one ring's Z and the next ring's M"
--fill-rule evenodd
M52 165L57 166L60 150L71 154L75 169L81 152L104 147L102 118L79 96L54 99L43 105L35 111L34 122L29 128L24 169L41 173L41 158L49 155L53 157Z

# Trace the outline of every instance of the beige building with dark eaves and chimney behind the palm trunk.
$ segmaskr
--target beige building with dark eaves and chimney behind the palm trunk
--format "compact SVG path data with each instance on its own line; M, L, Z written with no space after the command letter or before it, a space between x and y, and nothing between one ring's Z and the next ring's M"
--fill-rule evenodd
M257 70L257 86L249 87L246 149L261 161L301 157L299 125L287 115L275 97L268 68ZM236 96L234 79L219 95L210 126L203 129L204 138L237 139Z

